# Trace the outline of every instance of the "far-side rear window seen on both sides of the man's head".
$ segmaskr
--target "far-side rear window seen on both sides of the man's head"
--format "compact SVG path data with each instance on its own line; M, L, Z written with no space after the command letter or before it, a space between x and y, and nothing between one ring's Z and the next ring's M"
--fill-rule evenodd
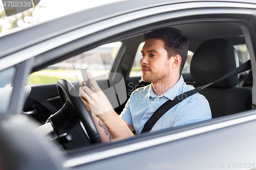
M140 43L139 47L138 47L138 50L136 52L136 55L135 55L135 59L134 59L134 62L133 62L133 67L132 67L132 70L130 72L130 77L141 77L141 67L140 67L140 60L141 60L141 50L142 50L142 47L144 45L145 42L142 42ZM190 66L190 61L191 61L191 58L193 56L193 52L190 52L188 51L187 53L187 60L186 60L186 63L184 65L184 68L182 69L182 73L189 73L189 66Z

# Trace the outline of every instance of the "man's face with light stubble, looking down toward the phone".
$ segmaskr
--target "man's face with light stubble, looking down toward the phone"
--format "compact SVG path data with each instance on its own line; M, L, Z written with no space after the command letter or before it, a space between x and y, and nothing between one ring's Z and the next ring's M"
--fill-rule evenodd
M142 80L157 83L167 79L170 75L170 61L161 39L148 39L141 50L140 60Z

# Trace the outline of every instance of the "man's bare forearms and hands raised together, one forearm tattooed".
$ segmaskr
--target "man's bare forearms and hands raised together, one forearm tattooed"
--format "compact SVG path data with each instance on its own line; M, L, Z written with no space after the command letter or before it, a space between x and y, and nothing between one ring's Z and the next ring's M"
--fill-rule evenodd
M88 111L102 120L103 124L98 122L95 116L92 116L99 133L101 133L100 136L103 137L102 140L107 141L105 138L108 136L104 131L104 127L108 130L112 139L134 136L130 130L130 128L133 129L132 125L129 124L129 127L127 127L125 121L114 111L108 98L99 88L90 72L87 72L87 76L93 85L93 91L86 86L86 82L80 82L82 87L79 89L79 95ZM105 136L102 134L105 134Z

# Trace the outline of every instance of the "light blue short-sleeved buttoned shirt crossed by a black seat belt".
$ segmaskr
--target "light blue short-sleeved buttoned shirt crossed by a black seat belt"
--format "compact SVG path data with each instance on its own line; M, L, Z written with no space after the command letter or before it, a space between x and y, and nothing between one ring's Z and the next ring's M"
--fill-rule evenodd
M140 134L147 120L167 100L173 100L175 96L195 89L187 85L181 75L179 81L164 94L155 94L152 84L134 90L120 117L133 125L136 134ZM196 93L168 110L154 125L152 131L178 127L191 123L211 119L211 111L205 97Z

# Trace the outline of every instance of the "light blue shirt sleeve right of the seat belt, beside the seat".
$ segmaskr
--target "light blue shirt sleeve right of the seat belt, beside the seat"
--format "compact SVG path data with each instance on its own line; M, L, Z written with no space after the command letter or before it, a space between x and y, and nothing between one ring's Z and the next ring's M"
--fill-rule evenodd
M193 98L190 98L192 97ZM190 96L177 106L173 119L173 127L188 125L211 119L210 106L207 99L197 93Z

